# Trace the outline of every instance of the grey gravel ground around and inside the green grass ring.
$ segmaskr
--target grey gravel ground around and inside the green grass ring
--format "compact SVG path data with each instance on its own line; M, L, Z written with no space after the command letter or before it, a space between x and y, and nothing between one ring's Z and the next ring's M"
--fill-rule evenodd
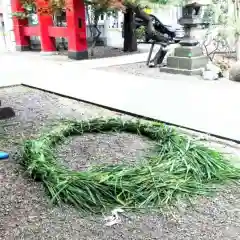
M37 137L41 129L57 119L119 115L25 87L2 88L0 99L17 113L15 119L1 122L1 150L10 153L16 150L20 139ZM4 130L7 136L3 135ZM62 162L73 169L123 160L134 164L133 159L141 157L143 149L151 145L146 139L129 134L87 134L70 138L68 143L59 147L58 154ZM238 147L228 148L239 153ZM103 216L83 216L69 206L52 206L41 183L24 176L13 159L0 162L0 239L3 240L240 239L240 190L237 187L228 186L215 197L198 198L193 204L194 210L182 205L180 211L171 216L129 212L120 224L106 227Z

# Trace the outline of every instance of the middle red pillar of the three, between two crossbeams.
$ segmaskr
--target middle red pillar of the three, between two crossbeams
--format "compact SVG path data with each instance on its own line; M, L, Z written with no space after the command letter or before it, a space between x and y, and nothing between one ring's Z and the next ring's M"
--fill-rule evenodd
M55 38L50 37L48 27L53 26L53 18L49 9L48 0L37 0L37 14L41 50L43 52L55 52Z

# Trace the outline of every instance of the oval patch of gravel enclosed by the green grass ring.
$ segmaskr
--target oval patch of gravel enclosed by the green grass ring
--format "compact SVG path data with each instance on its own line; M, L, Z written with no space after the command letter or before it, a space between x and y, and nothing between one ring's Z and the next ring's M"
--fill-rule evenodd
M150 148L151 141L126 133L84 134L70 137L57 153L62 164L76 170L85 170L97 164L125 163L134 165Z

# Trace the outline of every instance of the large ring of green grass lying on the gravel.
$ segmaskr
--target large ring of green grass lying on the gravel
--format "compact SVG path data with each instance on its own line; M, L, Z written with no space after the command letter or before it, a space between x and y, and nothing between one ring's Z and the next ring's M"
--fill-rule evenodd
M154 151L136 166L96 166L75 171L62 166L55 146L72 135L127 132L155 141ZM164 124L91 119L65 121L39 139L24 142L21 164L41 181L52 202L94 212L108 208L162 208L176 200L208 194L213 184L239 179L238 168L221 153Z

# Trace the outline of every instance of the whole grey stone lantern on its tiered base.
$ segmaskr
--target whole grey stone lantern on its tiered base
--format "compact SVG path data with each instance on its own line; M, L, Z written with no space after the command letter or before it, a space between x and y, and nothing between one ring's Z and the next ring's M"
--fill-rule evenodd
M160 68L162 72L179 73L185 75L199 75L206 67L208 58L203 55L196 39L196 29L206 25L201 19L202 6L209 5L208 0L186 1L182 8L182 17L179 23L184 26L185 36L180 46L175 48L174 55L167 58L167 66Z

